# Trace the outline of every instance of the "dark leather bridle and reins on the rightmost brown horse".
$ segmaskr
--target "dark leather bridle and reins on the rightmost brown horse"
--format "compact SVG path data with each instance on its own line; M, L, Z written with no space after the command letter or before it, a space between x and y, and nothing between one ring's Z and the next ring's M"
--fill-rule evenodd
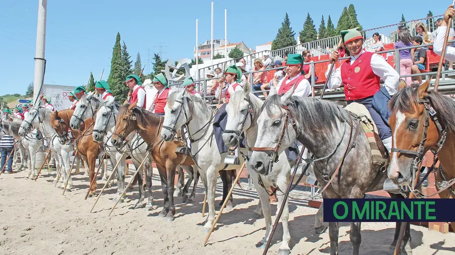
M447 181L446 178L445 178L445 174L444 174L444 172L442 170L442 167L439 166L439 171L440 171L441 176L444 179L444 181L442 183L437 183L436 184L438 192L436 194L431 195L431 196L424 196L424 195L420 194L419 190L416 189L417 187L420 186L420 184L422 184L422 182L428 177L428 175L434 169L434 167L436 165L436 162L438 161L438 159L437 159L438 153L441 150L442 145L444 144L445 139L447 137L447 127L443 128L441 123L439 122L438 113L433 108L430 98L428 96L424 97L423 99L419 98L419 99L417 99L417 103L424 105L424 115L425 115L425 122L424 122L423 131L422 131L422 138L421 138L421 141L420 141L420 144L419 144L419 147L418 147L417 151L404 150L404 149L398 149L398 148L392 148L391 151L392 152L397 152L397 153L402 153L402 154L405 154L405 155L412 155L413 156L414 160L413 160L413 163L411 164L410 171L411 171L412 176L413 176L412 180L415 180L416 179L416 175L417 175L417 171L419 169L419 165L421 164L421 162L422 162L422 160L423 160L423 158L425 156L424 148L425 148L425 141L427 140L427 132L428 132L428 126L430 125L430 118L433 120L433 122L436 125L436 129L437 129L438 133L441 133L441 138L436 143L437 149L436 150L431 149L432 153L434 154L433 165L431 166L429 171L426 173L424 178L422 178L415 186L414 186L414 181L413 181L413 184L412 184L413 187L410 187L411 191L416 196L419 196L421 198L422 197L423 198L427 198L427 197L433 197L433 196L441 193L443 190L449 188L453 183L455 183L455 178L450 180L450 181ZM435 178L435 182L436 182L436 178ZM450 191L451 191L451 193L453 195L455 195L455 193L453 192L452 188L450 188Z

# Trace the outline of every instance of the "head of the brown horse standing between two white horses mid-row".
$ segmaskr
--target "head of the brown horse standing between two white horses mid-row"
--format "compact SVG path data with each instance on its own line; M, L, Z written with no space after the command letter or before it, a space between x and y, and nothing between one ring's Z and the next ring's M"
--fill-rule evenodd
M136 114L140 113L140 110L136 109L136 104L137 101L120 107L115 120L114 132L111 136L112 145L117 148L121 148L126 137L138 127Z

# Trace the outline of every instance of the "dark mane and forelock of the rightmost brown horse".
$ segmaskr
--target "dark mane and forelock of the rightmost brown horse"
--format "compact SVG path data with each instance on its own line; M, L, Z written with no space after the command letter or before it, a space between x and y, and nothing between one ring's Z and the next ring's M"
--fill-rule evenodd
M418 104L420 98L418 92L419 85L414 84L399 90L390 100L389 109L391 111L399 110L406 113L415 113L414 105ZM434 91L427 93L433 108L438 112L439 121L452 134L455 133L455 102Z

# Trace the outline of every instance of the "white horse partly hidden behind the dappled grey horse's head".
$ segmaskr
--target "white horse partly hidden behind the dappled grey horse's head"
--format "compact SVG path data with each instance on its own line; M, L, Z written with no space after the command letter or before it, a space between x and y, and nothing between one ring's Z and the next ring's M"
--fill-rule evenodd
M261 107L263 105L263 101L260 100L257 96L253 95L250 92L250 86L245 86L243 91L236 91L232 89L232 87L228 88L229 93L232 95L231 100L226 105L226 113L227 113L227 124L223 133L223 141L226 146L235 147L239 144L240 135L242 133L245 134L246 138L246 145L248 148L252 148L256 143L257 138L257 118L261 113ZM270 172L264 174L258 174L254 169L250 167L248 164L247 158L247 169L248 173L253 179L254 187L259 195L260 204L262 206L262 212L265 218L265 236L259 242L257 246L264 246L268 241L270 230L271 230L271 212L270 212L270 200L268 199L268 192L265 188L271 186L278 186L277 190L277 197L278 197L278 207L277 207L277 214L278 210L281 208L281 204L283 203L284 194L283 192L286 191L291 175L291 165L289 160L287 159L285 151L280 153L278 162L275 163ZM258 183L258 178L261 179L262 185ZM294 179L296 181L296 179ZM324 225L322 224L323 218L323 210L322 206L321 209L316 214L315 220L315 232L322 233L326 230ZM289 241L291 239L291 235L289 233L288 228L288 219L289 219L289 207L288 207L288 200L286 200L286 204L283 210L283 214L281 216L281 220L283 222L283 242L279 249L279 254L289 254L290 247Z

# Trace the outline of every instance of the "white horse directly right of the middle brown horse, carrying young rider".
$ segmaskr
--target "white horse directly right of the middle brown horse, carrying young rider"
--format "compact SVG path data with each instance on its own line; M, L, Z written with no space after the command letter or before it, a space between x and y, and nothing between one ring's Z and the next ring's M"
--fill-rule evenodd
M188 133L194 141L191 144L191 152L207 193L208 217L204 224L204 231L209 231L215 219L216 173L220 170L236 170L239 165L224 163L227 153L219 153L213 137L214 113L201 98L187 93L186 90L173 92L167 99L164 112L163 127L166 128L161 130L161 138L164 141L172 141L175 134L171 130L179 130L184 124L188 126ZM241 158L240 163L243 164L243 162ZM260 205L255 211L260 213Z

